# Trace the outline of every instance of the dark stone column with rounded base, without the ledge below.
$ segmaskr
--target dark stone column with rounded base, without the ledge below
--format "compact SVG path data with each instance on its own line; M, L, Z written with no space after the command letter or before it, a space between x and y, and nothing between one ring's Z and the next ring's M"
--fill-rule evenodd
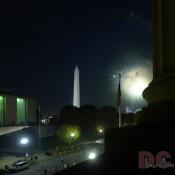
M175 0L153 0L153 37L153 81L143 92L148 106L141 120L170 123L175 121L170 115L175 112Z

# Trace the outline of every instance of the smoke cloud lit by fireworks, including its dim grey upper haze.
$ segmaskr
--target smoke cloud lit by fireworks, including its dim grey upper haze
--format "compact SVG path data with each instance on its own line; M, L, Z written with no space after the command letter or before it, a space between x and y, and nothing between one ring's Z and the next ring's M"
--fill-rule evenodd
M121 68L114 72L115 75L119 73L122 75L122 108L125 112L126 109L135 112L135 110L146 105L142 92L153 78L152 61L139 54L125 54L121 62ZM113 81L114 93L116 93L118 78L116 77Z

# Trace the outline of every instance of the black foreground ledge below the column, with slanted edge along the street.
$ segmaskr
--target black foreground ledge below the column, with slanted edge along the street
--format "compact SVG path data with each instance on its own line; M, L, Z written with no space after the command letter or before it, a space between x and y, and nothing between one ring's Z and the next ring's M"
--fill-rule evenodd
M105 153L95 160L88 160L74 167L65 169L58 175L175 175L175 128L171 127L129 127L110 129L105 134ZM157 154L170 153L166 163L171 168L140 169L140 151L152 153L154 164L159 162ZM149 156L148 156L149 157ZM161 160L162 160L161 156ZM149 159L151 159L149 157ZM150 160L149 160L150 162ZM154 165L153 164L153 165ZM159 165L159 164L158 164ZM56 175L56 174L55 174Z

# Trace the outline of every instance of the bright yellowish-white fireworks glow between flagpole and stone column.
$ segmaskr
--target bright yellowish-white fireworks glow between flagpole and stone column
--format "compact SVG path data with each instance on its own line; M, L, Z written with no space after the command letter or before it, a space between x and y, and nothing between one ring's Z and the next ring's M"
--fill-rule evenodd
M122 69L121 73L121 92L123 110L126 108L129 111L136 111L146 105L146 101L142 97L144 89L149 85L152 80L152 70L149 66L133 66L131 68ZM118 76L113 75L115 79L115 89L117 92L118 87Z

